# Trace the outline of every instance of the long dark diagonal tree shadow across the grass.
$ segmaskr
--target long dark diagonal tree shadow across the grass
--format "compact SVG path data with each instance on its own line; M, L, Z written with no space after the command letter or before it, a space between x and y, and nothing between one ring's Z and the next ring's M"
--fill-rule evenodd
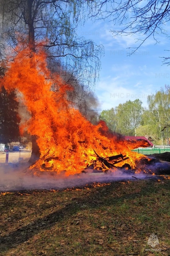
M52 228L57 222L64 221L70 218L78 211L82 210L83 205L87 205L91 209L98 209L101 206L116 205L117 203L123 202L125 199L135 199L139 196L151 195L156 193L156 189L151 190L148 184L144 184L140 192L132 191L130 194L125 194L123 196L112 195L112 191L119 188L122 184L119 182L114 182L110 186L99 187L89 195L72 198L72 202L66 204L62 209L49 213L43 218L38 218L32 223L18 228L16 231L11 232L9 236L1 237L0 244L1 248L9 250L15 248L18 244L22 244L27 241L35 234L40 233L42 230ZM126 193L126 191L125 191ZM34 228L36 227L36 228Z

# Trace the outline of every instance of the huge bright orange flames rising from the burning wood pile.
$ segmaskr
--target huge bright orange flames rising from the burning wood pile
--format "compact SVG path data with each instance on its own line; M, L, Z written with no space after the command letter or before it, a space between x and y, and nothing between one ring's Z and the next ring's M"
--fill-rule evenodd
M132 168L143 157L131 151L141 142L118 138L104 122L92 125L68 102L67 92L73 88L49 72L44 52L36 52L31 59L28 50L19 52L1 82L7 90L18 90L32 116L21 130L27 127L37 136L41 157L31 167L34 170L80 173L96 159L95 152L103 158L122 154L127 157L123 163ZM51 90L54 85L55 93Z

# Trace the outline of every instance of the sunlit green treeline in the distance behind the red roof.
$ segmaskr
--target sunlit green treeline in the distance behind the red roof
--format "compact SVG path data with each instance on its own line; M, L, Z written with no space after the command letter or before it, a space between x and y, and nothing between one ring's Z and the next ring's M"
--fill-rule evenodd
M170 86L165 85L147 98L148 107L142 101L128 100L115 108L103 110L104 120L110 130L131 136L148 135L154 144L169 144L170 137Z

